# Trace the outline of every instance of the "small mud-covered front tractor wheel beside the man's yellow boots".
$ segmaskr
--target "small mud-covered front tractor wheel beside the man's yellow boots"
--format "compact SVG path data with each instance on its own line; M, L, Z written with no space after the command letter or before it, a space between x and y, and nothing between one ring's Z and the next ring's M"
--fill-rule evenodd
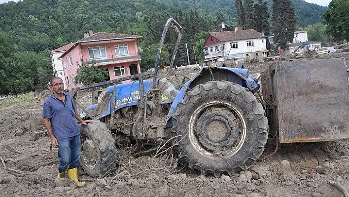
M102 177L116 167L115 140L105 123L93 120L93 123L81 125L80 165L92 177Z

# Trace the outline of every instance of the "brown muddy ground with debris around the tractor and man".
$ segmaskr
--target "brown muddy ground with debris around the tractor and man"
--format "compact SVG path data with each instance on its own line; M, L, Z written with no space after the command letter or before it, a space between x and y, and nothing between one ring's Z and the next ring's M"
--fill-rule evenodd
M319 58L330 57L345 57L348 64L349 53ZM246 67L258 72L270 63L253 62ZM33 138L30 131L30 113L36 130L44 130L41 109L48 95L48 91L31 93L0 103L0 196L340 197L343 193L329 181L349 190L349 140L280 145L274 155L276 145L268 144L250 169L221 178L183 167L172 152L131 158L102 179L80 170L86 186L77 188L70 179L55 180L57 149L50 153L49 137ZM90 92L83 92L80 99L89 102Z

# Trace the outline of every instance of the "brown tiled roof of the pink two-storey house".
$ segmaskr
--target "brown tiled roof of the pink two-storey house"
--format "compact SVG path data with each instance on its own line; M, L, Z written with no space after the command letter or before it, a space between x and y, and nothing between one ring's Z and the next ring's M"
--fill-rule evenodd
M112 40L112 39L140 39L140 38L142 37L137 35L98 32L87 38L79 39L77 40L76 43L90 42L90 41L103 41L103 40Z

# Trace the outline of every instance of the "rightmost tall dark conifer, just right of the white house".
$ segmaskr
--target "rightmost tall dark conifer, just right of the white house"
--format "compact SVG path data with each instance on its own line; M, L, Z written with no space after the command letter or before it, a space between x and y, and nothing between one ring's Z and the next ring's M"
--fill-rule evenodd
M273 0L274 41L281 49L286 49L292 42L296 29L296 18L291 0Z

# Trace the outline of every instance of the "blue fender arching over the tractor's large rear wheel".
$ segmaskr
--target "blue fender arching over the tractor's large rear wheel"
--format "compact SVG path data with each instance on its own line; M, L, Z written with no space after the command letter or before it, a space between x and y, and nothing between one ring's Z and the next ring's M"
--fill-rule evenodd
M182 88L177 92L176 97L171 105L170 111L166 119L166 127L172 127L172 116L177 109L177 104L184 99L187 90L194 88L197 85L208 81L226 80L243 87L248 88L251 92L255 92L260 88L260 84L248 75L247 69L226 68L226 67L202 67L199 74L193 79L187 81Z

